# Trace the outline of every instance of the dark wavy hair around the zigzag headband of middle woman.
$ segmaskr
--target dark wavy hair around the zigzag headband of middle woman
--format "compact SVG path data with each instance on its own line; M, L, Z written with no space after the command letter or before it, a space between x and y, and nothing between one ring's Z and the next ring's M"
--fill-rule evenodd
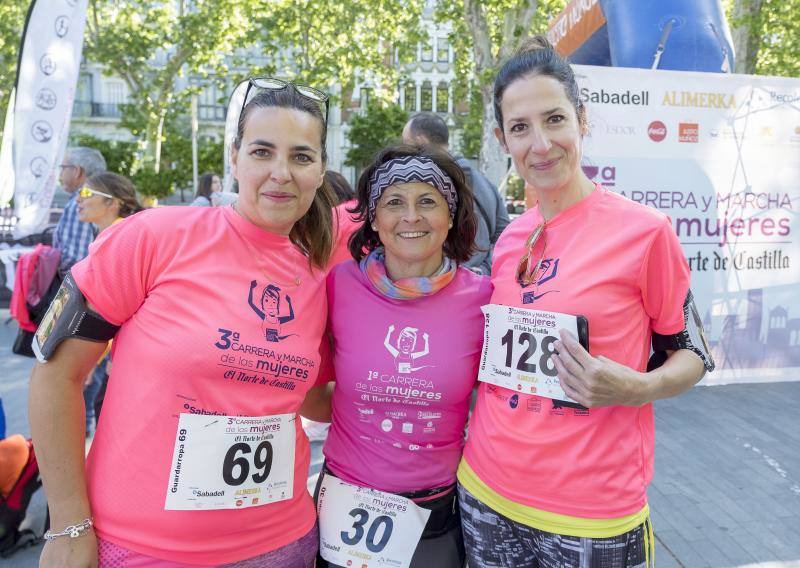
M390 146L382 150L358 178L356 185L358 203L348 211L355 215L356 220L361 223L361 227L350 237L350 254L356 261L359 261L370 251L381 246L381 239L378 233L372 230L372 223L369 222L370 179L373 172L382 164L405 156L423 156L433 160L453 181L458 194L458 205L453 216L453 226L447 232L447 238L444 241L444 252L456 262L466 262L475 251L475 232L478 225L475 219L475 200L472 196L472 189L464 177L464 171L447 152L431 146L406 144Z

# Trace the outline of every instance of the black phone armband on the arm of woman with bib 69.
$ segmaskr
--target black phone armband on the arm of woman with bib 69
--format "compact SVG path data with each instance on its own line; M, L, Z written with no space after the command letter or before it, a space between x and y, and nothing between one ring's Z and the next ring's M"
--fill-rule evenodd
M86 298L67 273L33 336L33 352L39 362L46 363L65 339L100 343L112 339L118 329L88 308Z

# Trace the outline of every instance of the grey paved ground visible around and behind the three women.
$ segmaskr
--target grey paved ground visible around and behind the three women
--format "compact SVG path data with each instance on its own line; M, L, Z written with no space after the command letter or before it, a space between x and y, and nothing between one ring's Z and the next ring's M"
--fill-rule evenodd
M9 433L29 433L32 360L12 355L2 325L0 398ZM699 387L656 404L656 475L650 489L659 568L800 567L800 382ZM309 487L321 463L313 444ZM26 524L39 528L38 492ZM37 565L40 547L0 566Z

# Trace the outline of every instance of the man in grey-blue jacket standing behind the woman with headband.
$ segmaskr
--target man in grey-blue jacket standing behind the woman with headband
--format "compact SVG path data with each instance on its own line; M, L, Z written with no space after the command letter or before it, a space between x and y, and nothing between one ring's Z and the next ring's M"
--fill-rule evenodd
M449 152L450 130L439 115L420 113L411 117L403 128L406 144L428 144ZM509 223L508 211L497 188L481 172L474 170L462 156L454 156L464 170L467 184L475 195L475 216L478 233L475 235L475 252L464 266L478 274L489 274L492 270L492 249L497 238Z

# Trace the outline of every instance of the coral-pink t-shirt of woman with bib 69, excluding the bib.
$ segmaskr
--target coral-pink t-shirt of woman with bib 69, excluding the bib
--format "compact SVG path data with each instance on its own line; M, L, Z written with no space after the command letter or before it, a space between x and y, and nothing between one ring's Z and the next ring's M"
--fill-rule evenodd
M305 535L315 516L299 420L292 499L202 511L164 503L180 413L298 410L320 365L325 273L231 207L134 215L104 231L72 273L91 305L122 325L88 457L100 537L175 562L222 564Z

